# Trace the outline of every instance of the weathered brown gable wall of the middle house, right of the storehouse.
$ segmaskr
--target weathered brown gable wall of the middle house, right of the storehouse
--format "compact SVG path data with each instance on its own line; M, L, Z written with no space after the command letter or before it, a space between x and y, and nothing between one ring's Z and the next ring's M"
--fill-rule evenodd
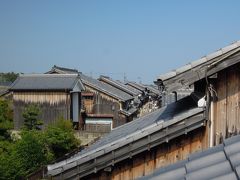
M86 113L90 114L112 114L113 115L113 128L123 125L127 122L127 117L119 114L121 102L101 93L87 85L85 85L86 92L94 93L93 99L84 99L83 105L85 106Z

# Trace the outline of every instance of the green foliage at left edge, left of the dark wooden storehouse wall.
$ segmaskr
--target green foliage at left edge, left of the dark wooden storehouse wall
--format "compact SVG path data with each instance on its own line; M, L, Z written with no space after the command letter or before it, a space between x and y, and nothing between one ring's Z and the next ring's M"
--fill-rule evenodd
M13 110L9 100L0 98L0 139L8 139L10 129L13 129Z

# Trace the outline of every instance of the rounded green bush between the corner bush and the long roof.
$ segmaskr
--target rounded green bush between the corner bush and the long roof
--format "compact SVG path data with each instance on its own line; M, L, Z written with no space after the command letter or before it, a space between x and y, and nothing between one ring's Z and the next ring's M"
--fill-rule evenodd
M63 156L80 144L74 136L71 121L63 118L47 127L45 140L56 158Z

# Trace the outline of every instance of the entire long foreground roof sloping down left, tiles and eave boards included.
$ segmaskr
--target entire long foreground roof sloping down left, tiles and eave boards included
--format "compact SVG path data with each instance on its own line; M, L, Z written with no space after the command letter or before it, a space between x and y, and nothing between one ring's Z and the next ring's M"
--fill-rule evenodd
M199 128L204 125L203 121L204 110L198 108L191 96L188 96L113 129L95 144L69 159L48 165L48 174L51 176L61 174L63 178L77 175L84 177L111 166L113 162L120 162ZM112 152L115 154L114 157Z

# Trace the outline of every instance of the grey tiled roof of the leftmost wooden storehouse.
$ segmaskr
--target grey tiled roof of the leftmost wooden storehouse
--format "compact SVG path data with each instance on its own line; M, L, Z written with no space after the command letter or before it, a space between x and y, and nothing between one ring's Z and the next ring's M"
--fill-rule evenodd
M77 74L24 74L14 81L10 90L72 90L84 86Z

